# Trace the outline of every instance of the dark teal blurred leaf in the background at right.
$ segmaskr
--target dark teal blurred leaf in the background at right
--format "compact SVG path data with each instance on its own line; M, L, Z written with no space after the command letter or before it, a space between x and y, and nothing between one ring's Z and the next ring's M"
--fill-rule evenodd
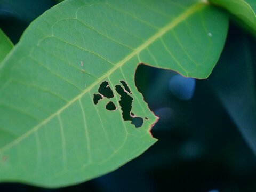
M216 71L209 80L214 93L256 154L255 40L237 29L234 31L236 33L229 35Z

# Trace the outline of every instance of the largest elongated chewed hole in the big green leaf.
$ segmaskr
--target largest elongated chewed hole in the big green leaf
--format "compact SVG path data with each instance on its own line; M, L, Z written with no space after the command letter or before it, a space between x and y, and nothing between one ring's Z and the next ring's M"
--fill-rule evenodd
M121 96L119 104L121 106L124 121L131 121L136 128L141 127L143 125L143 118L134 117L135 115L131 112L133 98L127 93L127 91L124 91L121 85L116 85L115 89L116 92Z

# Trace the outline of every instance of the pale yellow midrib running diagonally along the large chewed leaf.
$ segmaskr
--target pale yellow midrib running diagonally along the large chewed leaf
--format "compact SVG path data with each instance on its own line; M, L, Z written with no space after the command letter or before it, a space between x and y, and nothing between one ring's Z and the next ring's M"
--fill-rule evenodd
M162 37L164 34L167 33L167 31L169 31L170 29L172 29L173 27L177 26L180 22L182 22L183 20L185 20L186 18L189 17L189 15L195 13L197 10L202 9L203 7L206 7L207 4L205 3L197 3L191 7L189 7L186 11L184 11L183 13L181 13L177 18L175 18L174 20L172 20L172 22L170 22L168 25L164 26L162 29L160 29L155 35L153 35L152 37L150 37L145 43L143 43L142 45L140 45L139 47L137 47L137 49L135 49L131 54L127 55L127 57L125 57L122 61L118 62L115 67L113 67L112 69L110 69L109 71L107 71L107 73L105 75L103 75L102 77L100 77L97 81L95 81L93 84L91 84L89 87L87 87L82 93L80 93L79 95L77 95L77 97L75 97L74 99L70 100L65 106L63 106L61 109L59 109L58 111L56 111L54 114L52 114L51 116L49 116L48 118L46 118L44 121L42 121L41 123L39 123L38 125L36 125L35 127L33 127L31 130L29 130L28 132L22 134L20 137L18 137L17 139L11 141L10 143L8 143L7 145L5 145L4 147L2 147L0 149L0 154L4 153L6 150L9 150L10 148L12 148L13 146L15 146L17 143L19 143L20 141L22 141L23 139L27 138L30 134L34 133L35 131L37 131L39 129L39 127L41 127L42 125L44 125L45 123L49 122L53 117L55 117L56 115L60 114L63 110L65 110L67 107L69 107L72 103L74 103L75 101L77 101L79 98L81 98L85 93L87 93L88 91L90 91L92 89L92 87L98 85L101 81L103 81L103 79L105 79L105 77L109 76L111 73L113 73L116 69L118 69L119 67L121 67L122 65L124 65L124 63L126 63L127 61L129 61L132 57L134 57L135 55L137 55L138 53L140 53L142 50L144 50L148 45L150 45L151 43L153 43L154 41L156 41L156 39L158 39L159 37Z

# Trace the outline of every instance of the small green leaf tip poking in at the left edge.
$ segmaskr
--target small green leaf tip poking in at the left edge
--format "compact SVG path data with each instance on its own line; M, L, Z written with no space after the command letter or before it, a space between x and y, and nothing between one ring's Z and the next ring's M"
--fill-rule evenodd
M13 47L10 39L4 34L2 29L0 29L0 66L5 56L11 51Z

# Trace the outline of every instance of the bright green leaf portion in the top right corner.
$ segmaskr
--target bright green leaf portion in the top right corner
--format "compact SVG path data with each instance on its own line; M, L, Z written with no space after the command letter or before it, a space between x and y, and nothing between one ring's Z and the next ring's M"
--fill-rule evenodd
M235 21L256 35L256 2L255 0L209 0L221 6L235 16Z

